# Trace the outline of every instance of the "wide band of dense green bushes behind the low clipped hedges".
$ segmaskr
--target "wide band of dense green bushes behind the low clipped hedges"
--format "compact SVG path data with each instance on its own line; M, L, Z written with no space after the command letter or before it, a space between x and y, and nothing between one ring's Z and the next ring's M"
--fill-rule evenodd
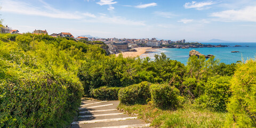
M143 81L164 83L174 76L182 77L185 71L182 63L169 60L164 54L156 55L154 61L149 58L123 58L122 55L93 54L91 57L78 71L87 94L100 86L125 87Z

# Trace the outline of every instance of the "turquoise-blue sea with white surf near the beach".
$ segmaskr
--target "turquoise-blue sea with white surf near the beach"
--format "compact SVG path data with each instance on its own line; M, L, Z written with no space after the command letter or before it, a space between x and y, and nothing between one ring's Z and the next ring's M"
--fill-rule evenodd
M154 60L155 54L164 52L167 58L171 60L177 60L186 65L189 58L189 51L196 50L202 54L213 54L215 59L219 59L220 62L230 64L237 61L247 60L250 58L256 58L256 43L202 43L212 45L228 45L228 47L203 47L203 48L190 48L190 49L157 49L156 52L145 53L141 55L141 58L148 56L151 60ZM235 45L241 45L241 47L234 47ZM231 53L231 51L239 51L238 53Z

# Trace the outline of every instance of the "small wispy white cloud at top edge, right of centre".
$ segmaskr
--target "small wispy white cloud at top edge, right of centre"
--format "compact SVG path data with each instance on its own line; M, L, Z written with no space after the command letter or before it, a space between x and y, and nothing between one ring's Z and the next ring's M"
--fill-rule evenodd
M215 4L213 1L204 1L204 2L187 2L185 3L184 7L185 9L193 9L195 8L196 10L205 10L209 9L209 5Z

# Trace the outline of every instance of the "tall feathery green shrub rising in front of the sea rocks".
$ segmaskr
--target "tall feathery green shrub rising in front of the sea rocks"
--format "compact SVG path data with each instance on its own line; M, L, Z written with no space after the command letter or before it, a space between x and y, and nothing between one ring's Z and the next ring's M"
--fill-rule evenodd
M181 95L195 99L204 94L207 79L215 75L213 69L218 63L219 60L215 60L214 57L207 60L203 56L199 58L196 55L189 57L183 83L178 87Z

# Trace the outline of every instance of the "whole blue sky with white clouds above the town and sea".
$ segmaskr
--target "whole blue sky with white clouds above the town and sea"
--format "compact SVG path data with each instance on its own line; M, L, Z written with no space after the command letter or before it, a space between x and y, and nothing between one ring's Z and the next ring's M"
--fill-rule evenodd
M21 33L256 42L255 0L0 0L0 6L3 24Z

